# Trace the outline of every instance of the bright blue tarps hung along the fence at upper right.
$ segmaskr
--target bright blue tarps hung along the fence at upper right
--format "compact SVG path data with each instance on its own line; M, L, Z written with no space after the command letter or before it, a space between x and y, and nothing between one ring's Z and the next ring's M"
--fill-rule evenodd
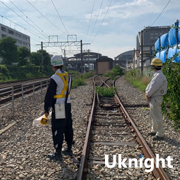
M155 42L156 58L163 63L167 58L172 58L176 54L180 54L180 22L173 24L168 33L160 36ZM173 62L178 63L180 56L174 57Z

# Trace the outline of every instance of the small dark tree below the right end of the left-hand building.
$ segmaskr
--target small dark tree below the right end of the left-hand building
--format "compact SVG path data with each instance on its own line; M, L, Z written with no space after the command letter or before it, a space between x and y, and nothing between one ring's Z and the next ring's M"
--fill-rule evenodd
M30 51L28 48L22 46L18 48L19 65L24 66L27 64Z

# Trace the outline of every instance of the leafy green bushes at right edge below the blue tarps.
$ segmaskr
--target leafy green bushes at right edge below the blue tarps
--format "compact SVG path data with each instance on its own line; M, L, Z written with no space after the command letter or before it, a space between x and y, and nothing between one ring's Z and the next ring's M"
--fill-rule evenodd
M167 78L168 91L163 97L162 112L174 121L175 129L180 128L180 62L172 61L178 56L167 59L163 65L163 73Z

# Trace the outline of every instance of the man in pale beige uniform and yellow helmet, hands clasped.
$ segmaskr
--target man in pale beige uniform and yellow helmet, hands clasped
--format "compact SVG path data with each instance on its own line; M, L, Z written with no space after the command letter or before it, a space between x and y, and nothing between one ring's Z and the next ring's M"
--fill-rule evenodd
M152 129L148 135L155 136L153 140L162 140L164 136L161 104L163 95L167 93L167 79L161 71L162 62L154 58L151 66L155 72L151 82L146 88L146 98L150 104L150 115L152 118Z

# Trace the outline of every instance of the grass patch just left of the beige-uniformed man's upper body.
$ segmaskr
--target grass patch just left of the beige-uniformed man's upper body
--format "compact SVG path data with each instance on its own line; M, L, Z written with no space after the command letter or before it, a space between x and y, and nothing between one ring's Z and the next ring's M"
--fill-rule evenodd
M151 81L148 76L141 76L139 70L133 69L128 71L125 75L125 79L132 84L135 88L145 92L147 85Z

